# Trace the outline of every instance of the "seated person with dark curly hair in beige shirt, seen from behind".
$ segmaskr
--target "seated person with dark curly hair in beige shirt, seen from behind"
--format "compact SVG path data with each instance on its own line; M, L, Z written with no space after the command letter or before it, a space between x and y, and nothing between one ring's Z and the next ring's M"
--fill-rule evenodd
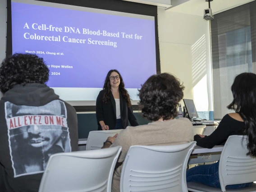
M178 145L193 141L192 123L186 119L175 119L178 102L183 98L183 85L168 73L151 76L139 91L144 118L152 123L127 127L114 137L108 137L102 148L122 146L119 163L133 145ZM111 144L112 143L112 144ZM114 171L112 191L119 192L123 165Z

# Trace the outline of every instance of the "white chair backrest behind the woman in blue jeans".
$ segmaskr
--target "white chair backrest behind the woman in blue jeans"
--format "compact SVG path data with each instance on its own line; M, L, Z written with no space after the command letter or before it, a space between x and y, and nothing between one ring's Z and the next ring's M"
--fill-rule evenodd
M256 159L247 156L247 137L230 136L219 160L219 182L222 191L227 185L254 182Z

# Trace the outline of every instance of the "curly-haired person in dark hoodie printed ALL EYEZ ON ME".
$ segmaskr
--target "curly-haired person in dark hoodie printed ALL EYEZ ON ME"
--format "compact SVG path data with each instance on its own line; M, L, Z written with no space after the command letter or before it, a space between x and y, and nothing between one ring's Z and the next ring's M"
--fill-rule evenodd
M78 151L76 111L48 79L37 55L14 54L0 65L0 192L38 192L50 155Z

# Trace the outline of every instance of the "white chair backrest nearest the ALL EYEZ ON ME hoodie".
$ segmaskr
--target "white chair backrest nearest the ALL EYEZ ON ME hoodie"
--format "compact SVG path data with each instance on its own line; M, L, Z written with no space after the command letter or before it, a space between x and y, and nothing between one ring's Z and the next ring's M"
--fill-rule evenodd
M122 147L51 155L39 192L111 192Z

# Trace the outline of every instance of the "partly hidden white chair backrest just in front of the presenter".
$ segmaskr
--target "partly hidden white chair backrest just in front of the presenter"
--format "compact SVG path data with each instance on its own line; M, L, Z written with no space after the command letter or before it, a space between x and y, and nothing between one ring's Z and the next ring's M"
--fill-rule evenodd
M101 149L108 137L113 137L123 129L91 131L88 135L86 150Z

